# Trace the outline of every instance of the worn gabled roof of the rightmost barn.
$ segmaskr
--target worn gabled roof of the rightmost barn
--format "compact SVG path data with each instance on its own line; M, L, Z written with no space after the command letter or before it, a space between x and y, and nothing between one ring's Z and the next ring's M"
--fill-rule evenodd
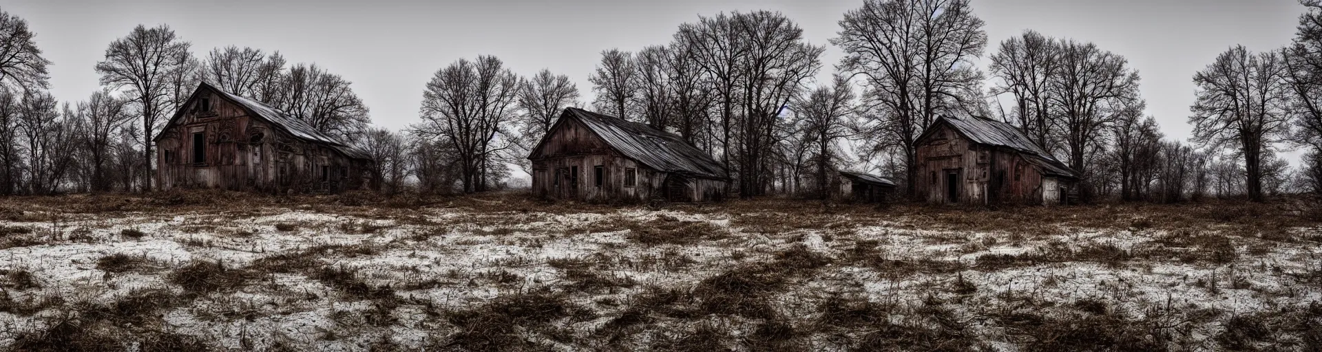
M1066 166L1064 162L1056 160L1051 156L1051 153L1047 153L1046 149L1042 149L1042 146L1038 146L1038 144L1032 142L1032 140L1023 134L1019 128L1011 124L984 117L941 116L932 123L932 127L941 123L951 125L951 128L973 142L1005 146L1023 153L1025 158L1029 162L1040 166L1044 174L1079 178L1079 173L1071 170L1069 166ZM917 137L917 140L921 141L929 137L933 131L936 131L936 128L928 128L923 132L923 136Z

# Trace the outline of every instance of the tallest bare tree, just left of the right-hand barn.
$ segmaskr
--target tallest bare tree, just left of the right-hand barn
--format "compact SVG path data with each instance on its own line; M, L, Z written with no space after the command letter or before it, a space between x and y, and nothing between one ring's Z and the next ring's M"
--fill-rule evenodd
M943 113L968 113L970 87L981 80L972 59L986 32L968 0L867 0L845 13L833 44L841 69L867 78L873 104L866 128L874 150L904 154L907 194L917 179L915 142Z

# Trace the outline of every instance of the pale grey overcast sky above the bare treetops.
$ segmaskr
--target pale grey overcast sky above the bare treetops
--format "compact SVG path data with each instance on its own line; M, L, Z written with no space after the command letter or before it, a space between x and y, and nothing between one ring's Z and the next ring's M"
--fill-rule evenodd
M93 66L106 46L135 25L168 24L193 51L237 45L279 50L353 82L371 120L403 128L418 120L423 84L440 67L481 54L500 57L521 75L542 67L587 82L611 47L665 44L681 22L722 11L780 11L814 45L828 45L830 76L841 53L828 40L862 0L739 1L291 1L291 0L5 0L0 9L28 20L54 62L53 94L86 99L98 90ZM1296 0L973 0L986 21L988 51L1025 29L1096 42L1126 57L1142 75L1149 113L1173 137L1188 136L1191 78L1232 45L1280 47L1294 36L1303 8ZM986 66L986 62L982 62Z

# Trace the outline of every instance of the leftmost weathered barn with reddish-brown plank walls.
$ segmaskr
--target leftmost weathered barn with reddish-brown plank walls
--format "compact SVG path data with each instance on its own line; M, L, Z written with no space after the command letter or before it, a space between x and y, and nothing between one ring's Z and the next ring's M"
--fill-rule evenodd
M156 181L176 187L338 192L371 160L271 105L202 83L155 137Z

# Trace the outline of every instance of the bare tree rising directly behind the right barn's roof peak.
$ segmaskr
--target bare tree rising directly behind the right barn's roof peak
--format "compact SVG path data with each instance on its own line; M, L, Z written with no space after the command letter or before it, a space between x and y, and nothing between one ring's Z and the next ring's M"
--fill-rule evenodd
M1047 140L1051 79L1056 73L1058 57L1059 45L1055 40L1025 30L1019 37L1001 42L989 67L1002 83L993 92L1014 95L1015 123L1038 146L1048 152L1052 148Z

